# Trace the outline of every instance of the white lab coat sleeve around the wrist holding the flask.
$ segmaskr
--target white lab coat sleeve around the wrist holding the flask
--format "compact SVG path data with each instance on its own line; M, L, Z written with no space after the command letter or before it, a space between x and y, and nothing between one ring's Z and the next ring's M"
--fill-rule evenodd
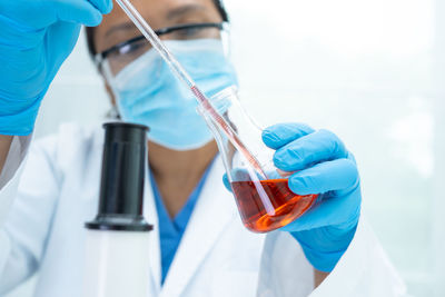
M259 273L259 297L398 297L405 285L366 220L329 276L314 290L314 269L295 239L276 231L266 237Z

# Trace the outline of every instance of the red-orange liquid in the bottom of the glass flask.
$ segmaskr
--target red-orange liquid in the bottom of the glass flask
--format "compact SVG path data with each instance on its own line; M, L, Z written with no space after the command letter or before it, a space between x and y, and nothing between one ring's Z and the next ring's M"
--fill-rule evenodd
M231 182L243 222L254 232L267 232L286 226L305 214L317 199L317 195L296 195L287 186L287 179L261 180L259 184ZM275 215L267 214L256 188L258 186L263 187L270 199Z

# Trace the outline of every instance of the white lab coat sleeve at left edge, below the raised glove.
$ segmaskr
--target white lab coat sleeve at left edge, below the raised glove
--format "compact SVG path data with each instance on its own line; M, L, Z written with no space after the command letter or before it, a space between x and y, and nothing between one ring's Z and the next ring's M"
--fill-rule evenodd
M12 162L7 169L12 171L3 176L7 181L0 190L0 296L30 277L43 254L58 192L51 161L55 142L50 138L33 142L26 162L24 142L21 149L12 148L19 149L17 156L8 156L7 162Z

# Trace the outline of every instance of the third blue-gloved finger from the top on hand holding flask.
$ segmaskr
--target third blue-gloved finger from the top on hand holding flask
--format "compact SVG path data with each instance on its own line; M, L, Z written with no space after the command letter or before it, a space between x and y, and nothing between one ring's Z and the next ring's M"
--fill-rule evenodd
M336 159L293 174L288 185L298 195L344 192L358 187L359 175L353 160Z

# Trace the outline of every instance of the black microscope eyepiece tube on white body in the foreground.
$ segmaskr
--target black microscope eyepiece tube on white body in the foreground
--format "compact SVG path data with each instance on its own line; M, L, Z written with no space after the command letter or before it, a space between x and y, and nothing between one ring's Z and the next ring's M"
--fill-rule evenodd
M142 216L147 127L106 129L98 215L86 224L82 297L147 297L152 226Z

